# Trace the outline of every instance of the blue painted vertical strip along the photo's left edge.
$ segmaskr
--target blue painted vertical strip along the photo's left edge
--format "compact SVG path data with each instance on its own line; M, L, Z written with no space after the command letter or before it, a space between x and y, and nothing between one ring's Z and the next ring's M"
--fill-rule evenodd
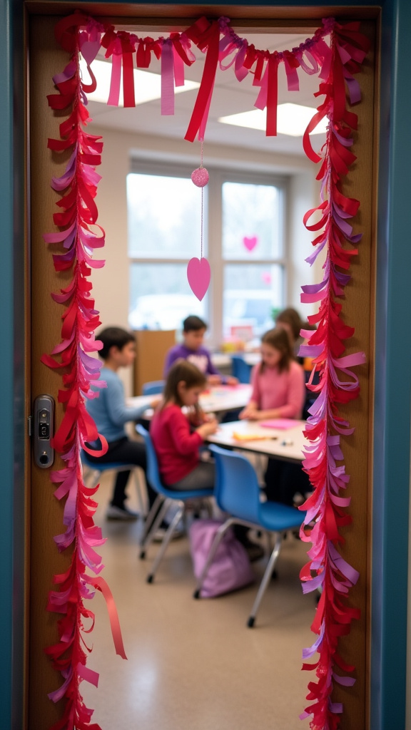
M0 2L0 69L0 727L21 730L26 414L23 318L25 94L20 3Z

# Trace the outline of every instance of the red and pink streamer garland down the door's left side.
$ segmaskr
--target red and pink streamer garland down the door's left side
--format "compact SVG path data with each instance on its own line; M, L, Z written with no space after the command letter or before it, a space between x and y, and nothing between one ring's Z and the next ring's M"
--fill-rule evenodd
M83 30L80 32L80 27ZM86 667L86 656L91 651L86 645L83 634L94 626L94 613L86 609L85 599L91 599L94 591L90 585L99 588L108 601L110 623L117 653L126 658L118 624L113 596L102 578L91 578L86 569L95 574L102 570L102 561L94 548L105 542L101 529L94 525L93 517L97 507L94 489L86 488L83 482L81 450L88 450L87 442L101 439L105 453L107 442L99 437L94 420L86 410L86 399L96 397L91 385L104 386L99 381L101 364L88 353L99 350L100 342L94 339L94 331L99 326L99 312L91 299L91 282L88 277L91 269L102 266L104 261L93 258L94 250L104 245L105 233L97 225L97 205L95 196L100 175L96 166L100 164L101 137L88 134L83 127L89 121L83 101L85 89L90 91L95 84L91 74L91 85L86 86L80 78L80 46L84 55L94 58L99 47L99 39L104 30L96 21L75 13L64 18L56 26L56 37L69 50L71 58L64 72L54 77L59 93L50 94L48 103L53 110L69 108L69 116L60 124L61 139L49 139L50 150L70 150L71 155L64 174L53 178L52 187L61 193L57 202L60 212L53 215L53 221L60 231L45 234L48 245L63 246L64 253L54 253L53 262L57 272L72 270L69 285L53 294L53 299L64 304L61 328L61 343L51 355L42 356L42 362L53 369L63 369L64 388L59 391L59 402L64 404L64 416L53 437L53 447L61 454L64 469L52 472L51 481L56 488L57 499L66 499L64 504L64 525L66 531L55 537L59 550L72 546L71 564L64 575L56 575L54 582L58 591L50 591L48 610L59 612L59 642L48 647L46 653L53 667L61 672L64 679L61 687L50 693L50 699L58 702L65 698L64 713L52 730L99 730L91 723L93 710L83 703L80 683L88 681L97 686L98 674ZM88 44L88 48L85 47ZM132 49L124 41L124 56L129 59ZM128 63L125 69L129 69ZM134 100L134 87L126 79L124 95ZM95 452L94 452L95 453ZM86 626L85 621L91 624Z

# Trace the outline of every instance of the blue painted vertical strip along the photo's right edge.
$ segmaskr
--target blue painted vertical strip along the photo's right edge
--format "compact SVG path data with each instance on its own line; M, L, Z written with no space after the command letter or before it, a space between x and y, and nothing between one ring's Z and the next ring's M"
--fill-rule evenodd
M372 722L405 728L410 499L411 3L382 13L374 418Z

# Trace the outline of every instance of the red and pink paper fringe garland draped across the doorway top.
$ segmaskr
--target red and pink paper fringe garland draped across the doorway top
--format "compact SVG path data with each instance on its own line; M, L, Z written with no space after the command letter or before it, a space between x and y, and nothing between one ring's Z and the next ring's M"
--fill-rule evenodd
M267 136L275 136L278 71L284 64L288 91L298 91L298 69L306 74L320 74L326 78L331 61L330 47L324 38L331 34L333 18L323 19L323 27L315 31L312 38L307 38L298 47L284 51L258 49L249 44L246 38L238 36L230 26L228 18L208 20L199 18L192 26L181 33L170 33L169 37L157 39L146 36L138 37L128 31L116 31L109 23L97 23L93 18L76 11L68 18L61 20L56 26L56 37L62 47L69 50L70 38L75 28L82 28L79 42L80 50L84 50L88 67L98 52L97 44L106 49L105 58L112 58L112 72L108 104L118 106L121 91L121 75L123 80L124 107L135 107L134 64L137 69L148 69L152 54L161 60L161 113L174 113L174 90L184 85L184 66L195 62L192 44L206 54L200 88L197 93L195 107L184 139L194 142L204 139L208 110L214 89L217 66L222 71L233 66L235 77L241 82L247 74L252 73L253 86L257 90L254 106L267 110ZM346 76L347 82L350 74ZM94 78L91 74L91 77ZM84 88L86 92L91 89Z

